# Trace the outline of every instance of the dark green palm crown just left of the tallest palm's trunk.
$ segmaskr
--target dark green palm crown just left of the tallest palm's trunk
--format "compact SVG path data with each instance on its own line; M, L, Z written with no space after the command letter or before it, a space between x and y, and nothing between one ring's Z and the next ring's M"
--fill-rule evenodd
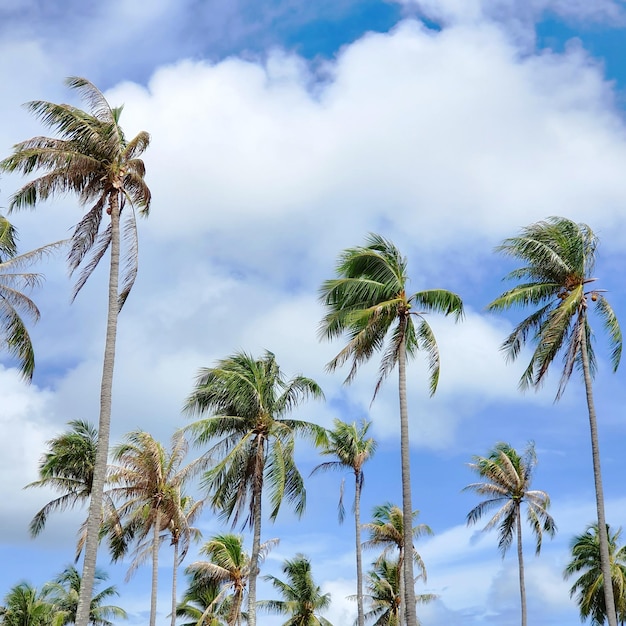
M29 526L33 537L44 529L50 513L83 504L91 497L98 431L83 420L68 425L68 432L47 442L48 452L39 462L39 480L25 487L46 487L61 494L33 517Z

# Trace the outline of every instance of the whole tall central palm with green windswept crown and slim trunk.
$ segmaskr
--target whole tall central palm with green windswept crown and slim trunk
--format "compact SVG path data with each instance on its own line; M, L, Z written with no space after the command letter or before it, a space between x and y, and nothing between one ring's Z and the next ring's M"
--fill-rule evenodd
M439 312L463 315L461 299L446 290L432 289L407 293L407 261L389 240L370 234L366 246L349 248L340 255L336 267L338 278L327 280L320 290L320 299L328 313L322 320L320 335L335 339L346 333L348 344L328 364L335 370L352 359L346 383L353 380L360 365L374 352L382 350L380 376L374 398L395 366L398 366L400 402L400 453L402 460L402 508L411 517L411 465L409 416L406 397L406 359L418 350L426 354L430 372L430 393L439 381L439 351L435 336L425 314ZM405 529L405 545L412 544L411 529ZM417 626L413 580L413 561L404 561L407 592L407 625Z

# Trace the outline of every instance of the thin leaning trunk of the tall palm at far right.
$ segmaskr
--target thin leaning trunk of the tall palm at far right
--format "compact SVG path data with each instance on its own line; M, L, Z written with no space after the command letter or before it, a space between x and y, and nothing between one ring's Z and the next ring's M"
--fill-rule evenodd
M589 431L591 433L591 457L593 460L593 478L596 487L596 507L598 510L598 539L600 542L600 569L604 580L604 601L606 603L606 617L609 626L617 626L617 614L615 611L615 598L613 595L611 578L611 561L609 557L609 539L606 532L606 516L604 513L604 490L602 488L602 471L600 468L600 444L598 441L598 422L596 409L593 402L593 388L591 384L591 372L589 371L589 354L587 352L587 335L585 328L582 330L581 356L583 362L583 375L585 379L585 392L587 394L587 408L589 409Z

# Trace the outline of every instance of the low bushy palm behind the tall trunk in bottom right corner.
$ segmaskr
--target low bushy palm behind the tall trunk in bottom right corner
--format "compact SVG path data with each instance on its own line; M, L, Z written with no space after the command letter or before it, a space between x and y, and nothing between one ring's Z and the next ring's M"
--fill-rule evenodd
M613 581L613 597L615 611L620 624L626 623L626 546L618 547L622 529L611 534L607 526L609 538L609 555L611 558L611 580ZM604 595L604 576L600 565L600 541L598 525L590 524L581 535L577 535L570 543L572 560L567 564L563 577L565 579L579 575L572 588L570 597L576 596L580 608L580 619L591 618L592 626L606 623L606 598Z

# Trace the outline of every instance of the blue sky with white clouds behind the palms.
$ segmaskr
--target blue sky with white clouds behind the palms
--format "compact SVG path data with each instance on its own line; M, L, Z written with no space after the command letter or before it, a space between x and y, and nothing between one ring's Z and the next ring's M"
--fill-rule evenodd
M67 101L66 76L82 75L114 105L129 135L147 130L153 192L140 224L140 274L120 318L113 441L143 428L163 442L184 425L181 406L202 366L244 349L272 350L288 375L303 373L327 402L298 416L330 425L368 418L379 441L366 467L363 517L400 501L398 408L391 378L370 407L376 363L350 387L324 364L340 344L320 344L322 280L339 252L370 231L409 260L411 286L459 293L466 319L433 318L442 373L428 397L423 363L409 370L414 505L434 537L418 548L425 626L519 622L513 554L465 527L475 498L466 463L497 441L536 442L534 487L552 498L557 537L528 550L530 622L578 622L561 572L567 546L594 517L584 396L572 379L553 403L558 371L521 394L524 366L498 346L512 324L485 305L511 269L493 254L504 237L549 215L592 226L601 238L597 276L626 319L626 7L614 0L301 0L95 5L67 0L0 8L0 152L42 132L21 104ZM0 180L5 207L20 180ZM80 217L73 198L15 215L24 250L67 236ZM49 499L23 491L45 442L71 419L97 420L106 275L98 271L70 306L62 259L51 259L36 298L38 369L26 387L3 359L0 385L0 594L22 579L40 585L72 559L83 512L59 514L37 540L32 515ZM600 329L598 328L598 331ZM626 522L622 450L624 372L600 355L597 409L611 525ZM522 355L524 356L524 355ZM300 446L302 471L319 462ZM302 520L285 509L264 538L281 543L266 562L305 552L333 596L327 617L350 624L352 528L339 526L339 476L307 480ZM223 530L209 513L205 537ZM247 538L249 539L249 538ZM532 546L530 546L532 548ZM170 555L163 550L159 610L168 613ZM374 554L366 555L373 559ZM193 558L193 557L192 557ZM191 560L191 559L190 559ZM123 566L100 565L121 591L129 624L145 623L148 568L124 583ZM260 597L271 593L261 588ZM264 617L263 624L280 621Z

